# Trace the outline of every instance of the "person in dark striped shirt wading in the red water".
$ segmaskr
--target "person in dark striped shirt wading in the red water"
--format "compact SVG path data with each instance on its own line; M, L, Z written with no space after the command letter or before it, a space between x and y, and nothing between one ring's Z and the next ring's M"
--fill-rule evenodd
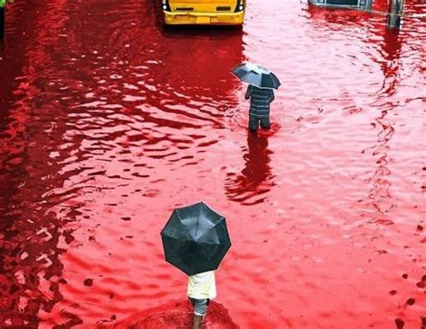
M245 99L250 98L249 129L256 132L259 123L262 129L271 129L270 104L275 99L272 89L249 84Z

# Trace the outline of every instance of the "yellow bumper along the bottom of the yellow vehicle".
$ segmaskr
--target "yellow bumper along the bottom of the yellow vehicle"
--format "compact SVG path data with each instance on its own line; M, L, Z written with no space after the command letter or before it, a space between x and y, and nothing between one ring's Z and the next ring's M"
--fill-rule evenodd
M244 12L240 13L172 13L164 11L164 22L170 25L179 24L223 24L241 25L244 22Z

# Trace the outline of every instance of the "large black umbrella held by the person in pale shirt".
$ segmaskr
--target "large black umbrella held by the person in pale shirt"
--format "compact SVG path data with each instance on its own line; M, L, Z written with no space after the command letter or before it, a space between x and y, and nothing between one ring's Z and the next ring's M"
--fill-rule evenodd
M165 260L188 275L217 270L231 246L225 218L203 202L174 209L161 238Z

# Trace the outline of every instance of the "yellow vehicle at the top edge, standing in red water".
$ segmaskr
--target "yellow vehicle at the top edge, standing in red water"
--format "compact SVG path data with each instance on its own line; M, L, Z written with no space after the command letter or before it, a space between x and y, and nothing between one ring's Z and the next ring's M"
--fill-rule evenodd
M241 25L245 0L161 0L165 24Z

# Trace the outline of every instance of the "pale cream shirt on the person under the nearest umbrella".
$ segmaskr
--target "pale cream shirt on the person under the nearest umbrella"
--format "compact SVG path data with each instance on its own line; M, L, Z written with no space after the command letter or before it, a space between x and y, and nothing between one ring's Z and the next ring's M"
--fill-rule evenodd
M215 271L205 271L189 276L188 297L195 299L216 298Z

